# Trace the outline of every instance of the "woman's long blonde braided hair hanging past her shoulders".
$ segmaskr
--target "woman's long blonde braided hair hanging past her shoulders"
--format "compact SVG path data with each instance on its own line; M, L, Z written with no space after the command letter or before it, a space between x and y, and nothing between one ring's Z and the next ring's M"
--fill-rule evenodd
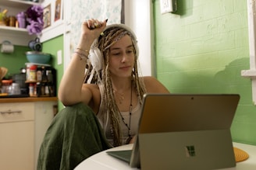
M116 105L116 100L112 88L111 72L109 71L109 47L111 47L113 43L116 43L116 41L120 40L125 35L129 35L133 43L133 53L135 57L133 71L131 73L131 81L133 87L136 89L140 104L146 89L144 87L144 82L141 78L139 78L137 64L138 47L135 34L123 24L107 26L103 33L104 34L99 36L98 40L96 40L91 47L98 47L101 53L101 57L103 56L103 60L101 61L101 63L103 63L102 68L99 71L93 71L95 67L93 65L95 64L88 62L89 64L87 64L85 82L91 84L101 83L104 86L104 94L101 94L101 105L105 106L106 114L110 116L113 142L114 146L116 147L122 145L123 131L120 127L119 109Z

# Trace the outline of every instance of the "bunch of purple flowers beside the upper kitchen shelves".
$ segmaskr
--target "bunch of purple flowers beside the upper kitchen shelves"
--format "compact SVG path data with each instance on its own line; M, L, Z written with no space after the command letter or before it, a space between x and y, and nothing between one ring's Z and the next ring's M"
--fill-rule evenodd
M44 29L44 9L41 5L32 5L27 9L27 31L30 35L39 35Z

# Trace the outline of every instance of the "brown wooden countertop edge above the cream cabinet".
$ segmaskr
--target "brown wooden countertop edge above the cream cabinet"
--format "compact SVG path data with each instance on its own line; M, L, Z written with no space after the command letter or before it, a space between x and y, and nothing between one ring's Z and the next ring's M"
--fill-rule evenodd
M5 102L48 102L58 101L57 97L24 97L24 98L2 98L0 103Z

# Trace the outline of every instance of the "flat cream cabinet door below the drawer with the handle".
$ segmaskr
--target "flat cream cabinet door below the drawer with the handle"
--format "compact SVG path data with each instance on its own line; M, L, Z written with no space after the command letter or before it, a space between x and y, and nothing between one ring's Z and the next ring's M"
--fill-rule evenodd
M0 123L0 169L34 169L34 122Z

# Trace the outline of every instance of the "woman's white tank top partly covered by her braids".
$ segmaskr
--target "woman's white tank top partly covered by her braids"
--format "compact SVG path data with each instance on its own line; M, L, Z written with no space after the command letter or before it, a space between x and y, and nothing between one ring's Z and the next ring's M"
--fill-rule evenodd
M103 92L103 85L99 85L100 92L101 92L101 99L102 99L102 92ZM131 120L130 120L130 113L129 112L121 112L124 122L129 126L130 124L130 130L131 130L131 137L133 137L135 134L137 134L137 129L139 126L139 120L140 120L140 114L141 114L141 106L139 99L137 100L137 106L135 106L132 109L132 114L131 114ZM99 111L98 111L98 120L101 123L101 126L105 132L105 137L107 138L108 142L113 145L113 137L112 133L110 130L110 117L108 113L105 111L105 107L102 104L100 104ZM123 130L123 144L126 144L126 140L129 138L129 129L126 127L126 124L123 123L123 120L120 116L120 123L121 123L121 128Z

